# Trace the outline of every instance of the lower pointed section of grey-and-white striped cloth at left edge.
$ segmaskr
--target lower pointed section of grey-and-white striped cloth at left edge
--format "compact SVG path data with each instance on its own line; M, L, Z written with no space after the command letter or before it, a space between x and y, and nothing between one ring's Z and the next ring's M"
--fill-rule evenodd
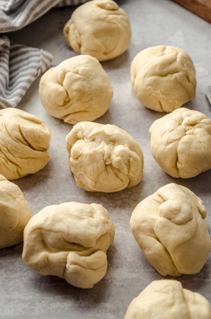
M8 37L0 37L0 109L16 107L52 59L45 50L10 43Z

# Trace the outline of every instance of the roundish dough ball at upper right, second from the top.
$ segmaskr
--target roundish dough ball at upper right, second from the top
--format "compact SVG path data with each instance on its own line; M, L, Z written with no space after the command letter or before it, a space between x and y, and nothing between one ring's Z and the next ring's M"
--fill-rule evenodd
M186 51L159 45L139 52L131 63L135 95L147 108L173 112L194 99L196 73Z

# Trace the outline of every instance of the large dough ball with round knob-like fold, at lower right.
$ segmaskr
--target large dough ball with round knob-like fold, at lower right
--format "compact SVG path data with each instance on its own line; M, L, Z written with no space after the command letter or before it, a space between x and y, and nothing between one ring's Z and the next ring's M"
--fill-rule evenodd
M130 227L145 258L161 275L196 274L211 251L206 216L199 197L171 183L136 206Z

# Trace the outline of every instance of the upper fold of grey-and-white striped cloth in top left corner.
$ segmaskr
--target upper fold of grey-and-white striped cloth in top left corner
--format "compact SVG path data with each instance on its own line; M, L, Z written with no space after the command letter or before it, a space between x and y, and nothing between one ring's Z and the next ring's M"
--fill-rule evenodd
M87 0L0 0L0 33L15 31L38 19L55 5L82 4Z

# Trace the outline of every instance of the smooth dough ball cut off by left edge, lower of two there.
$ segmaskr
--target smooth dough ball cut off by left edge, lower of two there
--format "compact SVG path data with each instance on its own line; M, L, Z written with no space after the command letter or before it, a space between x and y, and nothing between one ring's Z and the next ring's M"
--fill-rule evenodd
M0 249L23 241L24 227L31 217L22 191L0 175Z

